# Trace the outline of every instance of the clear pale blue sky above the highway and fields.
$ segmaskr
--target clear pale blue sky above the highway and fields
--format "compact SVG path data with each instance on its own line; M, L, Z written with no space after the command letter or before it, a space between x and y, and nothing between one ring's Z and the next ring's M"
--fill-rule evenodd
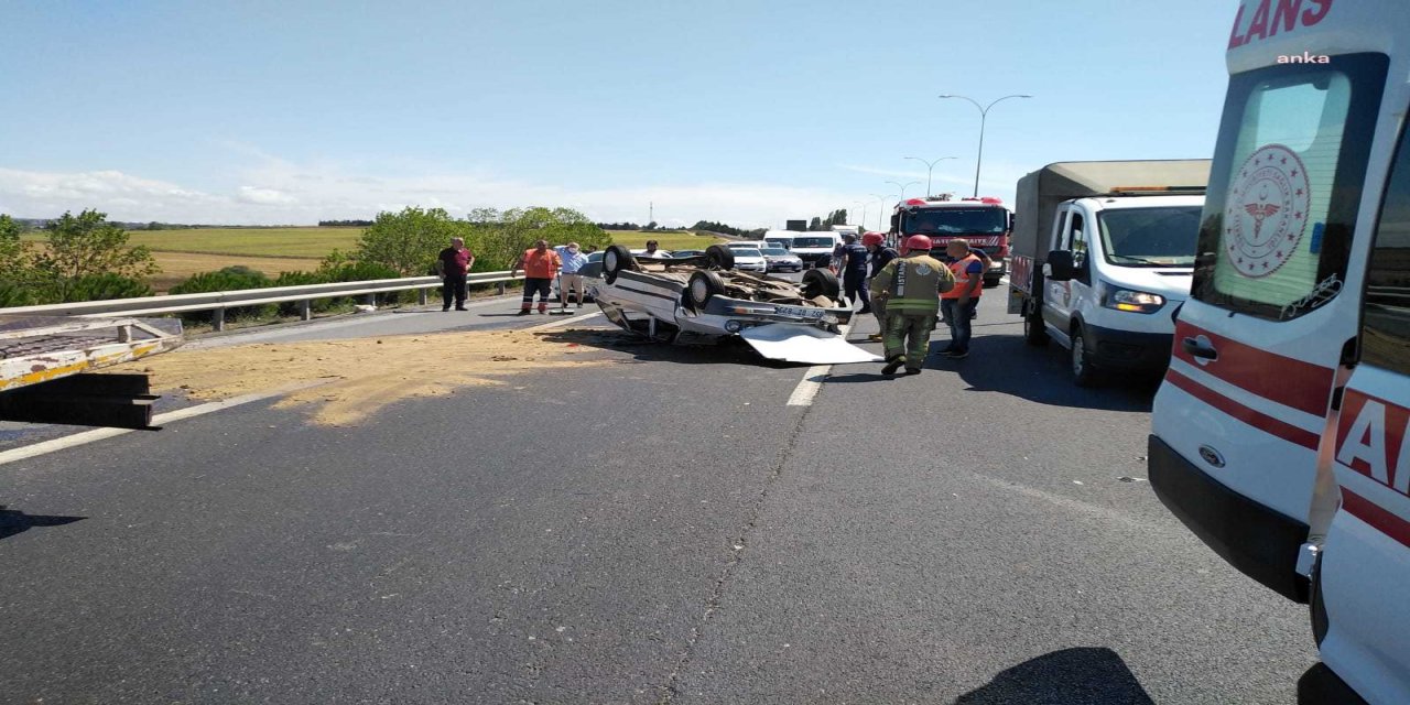
M1230 0L0 3L0 213L785 219L1208 157Z

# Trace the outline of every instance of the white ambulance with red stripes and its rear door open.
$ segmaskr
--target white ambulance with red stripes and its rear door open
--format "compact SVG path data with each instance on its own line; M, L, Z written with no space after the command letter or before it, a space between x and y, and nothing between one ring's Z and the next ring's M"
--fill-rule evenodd
M1244 0L1151 484L1310 603L1300 698L1410 702L1410 3Z

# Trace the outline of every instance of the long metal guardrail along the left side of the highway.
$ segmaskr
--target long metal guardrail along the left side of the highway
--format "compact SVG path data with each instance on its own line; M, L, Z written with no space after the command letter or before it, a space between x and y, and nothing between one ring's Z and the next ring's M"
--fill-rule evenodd
M516 269L516 272L523 272ZM505 293L505 283L523 279L513 272L474 272L468 283L498 283ZM56 303L52 306L17 306L0 309L11 316L142 316L161 313L186 313L196 310L213 312L216 330L226 329L226 309L237 306L259 306L265 303L299 302L299 317L313 317L312 302L338 296L368 296L378 293L417 290L420 303L426 305L426 292L441 285L439 276L410 276L405 279L369 279L365 282L313 283L306 286L271 286L265 289L240 289L233 292L178 293L175 296L141 296L137 299L110 299L102 302Z

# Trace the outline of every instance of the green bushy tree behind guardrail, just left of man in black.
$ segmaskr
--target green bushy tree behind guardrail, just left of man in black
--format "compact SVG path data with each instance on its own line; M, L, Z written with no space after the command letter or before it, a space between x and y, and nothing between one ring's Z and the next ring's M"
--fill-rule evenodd
M407 206L400 213L378 213L347 257L388 266L402 276L420 276L430 271L451 238L467 234L465 224L451 219L444 209Z

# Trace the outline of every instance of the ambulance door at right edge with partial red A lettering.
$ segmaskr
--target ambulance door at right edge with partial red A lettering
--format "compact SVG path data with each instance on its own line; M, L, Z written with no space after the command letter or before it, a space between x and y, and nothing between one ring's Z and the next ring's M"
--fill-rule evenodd
M1341 506L1323 544L1323 660L1372 702L1410 702L1410 147L1376 223L1359 362L1342 396L1332 468Z

